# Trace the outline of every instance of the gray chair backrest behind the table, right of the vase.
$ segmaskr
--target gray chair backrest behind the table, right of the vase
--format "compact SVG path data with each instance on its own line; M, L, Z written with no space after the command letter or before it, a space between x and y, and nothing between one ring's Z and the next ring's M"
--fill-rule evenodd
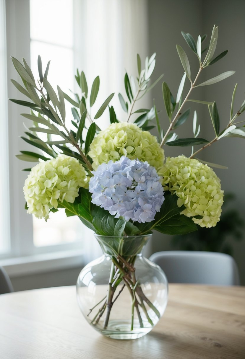
M164 251L149 259L162 268L170 283L240 284L236 262L224 253Z

